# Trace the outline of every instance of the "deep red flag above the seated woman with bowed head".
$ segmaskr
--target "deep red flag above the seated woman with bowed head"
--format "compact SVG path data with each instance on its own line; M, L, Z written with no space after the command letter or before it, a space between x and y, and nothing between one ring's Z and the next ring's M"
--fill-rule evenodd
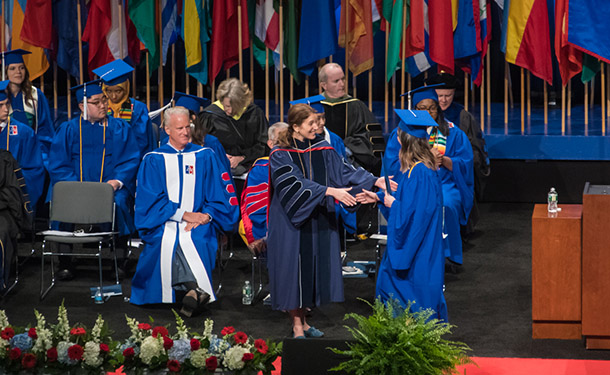
M250 47L248 35L248 4L241 1L242 49ZM229 69L239 62L238 12L235 0L216 0L212 10L212 36L210 43L210 82L220 70Z

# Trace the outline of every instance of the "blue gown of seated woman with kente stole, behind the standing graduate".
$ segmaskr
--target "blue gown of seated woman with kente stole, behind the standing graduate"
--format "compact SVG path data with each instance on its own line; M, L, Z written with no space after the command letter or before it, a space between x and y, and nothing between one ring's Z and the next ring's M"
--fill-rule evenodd
M383 156L382 173L397 175L400 173L398 152L400 143L394 129L390 134ZM443 202L445 205L445 225L443 233L445 255L453 262L462 264L462 237L460 225L466 225L474 199L474 170L472 165L472 147L466 134L453 123L449 123L449 135L445 156L451 158L453 171L445 167L439 170L443 184Z

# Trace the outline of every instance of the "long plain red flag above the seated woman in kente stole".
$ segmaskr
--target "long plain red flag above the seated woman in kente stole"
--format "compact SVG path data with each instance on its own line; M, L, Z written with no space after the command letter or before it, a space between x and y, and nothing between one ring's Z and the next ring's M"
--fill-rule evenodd
M413 18L411 18L413 21ZM453 74L453 17L451 0L428 0L430 58L439 71Z

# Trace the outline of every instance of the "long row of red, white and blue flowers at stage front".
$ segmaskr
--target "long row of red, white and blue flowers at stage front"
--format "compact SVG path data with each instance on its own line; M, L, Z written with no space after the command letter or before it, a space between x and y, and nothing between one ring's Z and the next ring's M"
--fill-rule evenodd
M55 325L47 325L42 314L34 313L36 325L18 328L0 310L0 373L100 374L118 369L116 373L211 374L222 370L270 375L282 350L281 343L255 340L233 327L223 328L219 337L212 333L210 319L202 333L192 333L175 312L173 335L165 326L153 327L127 317L131 335L123 343L112 340L101 316L87 330L82 325L70 326L63 304Z

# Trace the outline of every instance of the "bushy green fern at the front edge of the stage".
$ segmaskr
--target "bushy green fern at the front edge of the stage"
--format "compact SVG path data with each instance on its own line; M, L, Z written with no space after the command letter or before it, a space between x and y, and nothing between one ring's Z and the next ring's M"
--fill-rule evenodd
M364 301L364 300L363 300ZM466 355L471 350L466 344L444 337L454 327L437 319L431 319L430 309L410 312L396 301L382 303L376 300L373 314L364 317L346 314L344 319L354 319L357 327L346 326L353 336L347 350L331 348L348 359L331 371L348 374L458 374L457 366L472 363Z

